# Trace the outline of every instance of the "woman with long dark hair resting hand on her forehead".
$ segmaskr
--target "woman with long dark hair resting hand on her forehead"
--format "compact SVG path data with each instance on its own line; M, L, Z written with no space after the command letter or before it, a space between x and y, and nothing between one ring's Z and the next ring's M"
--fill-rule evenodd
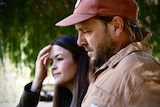
M89 84L89 58L85 50L77 45L77 37L68 35L39 52L35 78L25 86L17 107L37 106L49 61L56 84L53 107L80 107Z

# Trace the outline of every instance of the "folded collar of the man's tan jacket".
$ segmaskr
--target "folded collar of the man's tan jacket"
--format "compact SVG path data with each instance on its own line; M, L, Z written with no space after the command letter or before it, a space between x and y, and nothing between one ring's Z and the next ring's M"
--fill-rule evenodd
M137 51L144 51L147 53L152 52L152 45L146 42L133 42L126 46L125 48L121 49L117 54L113 55L107 62L105 62L96 72L93 74L93 77L96 77L101 74L107 68L114 68L116 65L127 55L131 54L132 52Z

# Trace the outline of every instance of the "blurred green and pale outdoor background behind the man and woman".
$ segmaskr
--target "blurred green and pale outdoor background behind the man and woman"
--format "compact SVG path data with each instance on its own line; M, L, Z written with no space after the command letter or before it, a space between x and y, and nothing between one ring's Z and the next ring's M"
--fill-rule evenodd
M140 22L152 31L153 56L160 61L160 1L136 1ZM19 101L24 85L33 80L35 61L44 46L60 35L76 35L74 26L54 26L72 13L75 2L0 0L0 103ZM53 83L49 73L44 85L52 87Z

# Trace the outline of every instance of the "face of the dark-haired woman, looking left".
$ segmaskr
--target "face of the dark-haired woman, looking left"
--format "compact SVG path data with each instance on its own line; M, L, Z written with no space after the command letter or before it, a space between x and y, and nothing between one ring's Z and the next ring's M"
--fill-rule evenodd
M55 84L72 88L77 73L77 63L72 53L59 45L53 45L49 57Z

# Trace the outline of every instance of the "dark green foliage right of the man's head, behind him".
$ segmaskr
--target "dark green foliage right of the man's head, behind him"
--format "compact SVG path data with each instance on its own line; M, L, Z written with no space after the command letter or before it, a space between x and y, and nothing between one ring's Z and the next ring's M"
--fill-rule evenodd
M136 0L139 4L139 20L152 32L150 43L153 45L153 56L160 61L160 1L159 0Z

